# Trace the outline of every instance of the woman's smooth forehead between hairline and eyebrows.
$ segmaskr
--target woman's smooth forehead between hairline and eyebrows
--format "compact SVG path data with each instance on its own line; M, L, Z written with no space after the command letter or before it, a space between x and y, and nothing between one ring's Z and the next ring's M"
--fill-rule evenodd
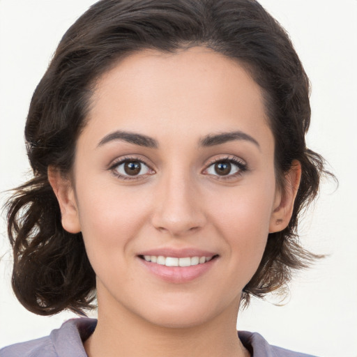
M170 130L254 132L267 123L261 89L248 72L206 47L121 59L96 83L88 119L98 135L120 129L153 137Z

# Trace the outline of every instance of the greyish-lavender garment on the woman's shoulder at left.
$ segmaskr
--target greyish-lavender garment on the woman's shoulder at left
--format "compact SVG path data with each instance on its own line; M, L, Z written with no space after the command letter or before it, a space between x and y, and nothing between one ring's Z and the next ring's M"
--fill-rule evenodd
M95 319L70 319L49 336L4 347L0 357L86 357L82 340L86 340L94 328Z

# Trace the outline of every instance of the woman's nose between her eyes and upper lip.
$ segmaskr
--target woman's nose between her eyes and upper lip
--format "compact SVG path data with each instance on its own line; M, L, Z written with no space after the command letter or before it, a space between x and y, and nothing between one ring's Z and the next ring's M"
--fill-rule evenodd
M155 195L153 226L171 236L185 236L206 223L204 206L195 180L188 175L162 179Z

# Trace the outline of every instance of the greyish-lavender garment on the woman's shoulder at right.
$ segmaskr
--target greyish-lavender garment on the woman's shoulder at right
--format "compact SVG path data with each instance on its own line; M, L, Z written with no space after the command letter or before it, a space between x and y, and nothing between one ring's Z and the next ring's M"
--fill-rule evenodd
M250 351L252 357L314 357L310 354L301 354L272 346L259 333L238 331L238 336L245 348Z

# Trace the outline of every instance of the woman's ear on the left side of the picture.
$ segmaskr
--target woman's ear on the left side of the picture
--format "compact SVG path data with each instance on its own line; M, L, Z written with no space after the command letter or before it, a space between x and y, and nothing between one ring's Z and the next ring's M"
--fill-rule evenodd
M47 176L59 202L63 229L73 234L78 233L81 231L81 226L72 183L56 167L48 167Z

